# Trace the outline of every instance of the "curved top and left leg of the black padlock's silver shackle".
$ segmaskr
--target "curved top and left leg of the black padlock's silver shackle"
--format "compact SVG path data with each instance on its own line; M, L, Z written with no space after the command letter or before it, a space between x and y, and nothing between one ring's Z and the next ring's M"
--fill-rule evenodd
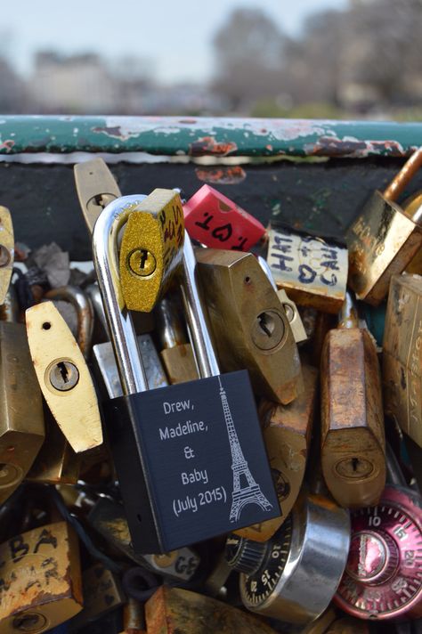
M145 195L122 196L107 205L93 228L93 264L110 329L123 394L148 390L148 381L134 332L131 313L126 309L118 275L118 233Z

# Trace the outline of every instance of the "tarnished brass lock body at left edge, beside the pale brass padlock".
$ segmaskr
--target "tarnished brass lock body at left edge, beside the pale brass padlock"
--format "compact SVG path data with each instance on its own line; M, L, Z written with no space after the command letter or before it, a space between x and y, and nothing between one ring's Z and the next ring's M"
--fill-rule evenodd
M41 392L25 326L0 322L0 503L19 486L45 440Z

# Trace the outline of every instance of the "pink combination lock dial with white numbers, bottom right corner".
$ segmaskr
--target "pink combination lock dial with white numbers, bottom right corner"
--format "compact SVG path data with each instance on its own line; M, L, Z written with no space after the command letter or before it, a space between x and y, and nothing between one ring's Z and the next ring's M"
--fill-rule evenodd
M335 601L364 619L422 615L422 509L415 493L387 487L377 507L353 512Z

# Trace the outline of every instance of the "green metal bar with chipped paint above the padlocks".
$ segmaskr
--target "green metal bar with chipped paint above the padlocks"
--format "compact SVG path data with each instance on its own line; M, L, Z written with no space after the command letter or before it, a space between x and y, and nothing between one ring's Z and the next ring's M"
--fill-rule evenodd
M312 119L4 116L0 153L146 152L166 156L401 157L422 123Z

